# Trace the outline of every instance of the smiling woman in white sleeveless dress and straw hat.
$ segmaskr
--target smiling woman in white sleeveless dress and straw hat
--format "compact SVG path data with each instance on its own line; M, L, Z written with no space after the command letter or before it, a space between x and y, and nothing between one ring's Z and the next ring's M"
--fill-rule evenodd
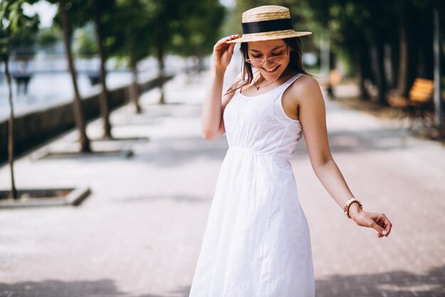
M345 215L388 236L385 214L365 212L328 146L316 80L302 69L289 9L260 6L242 15L243 35L215 44L202 134L226 133L220 169L190 297L313 297L309 226L289 158L305 136L311 165ZM222 96L225 70L241 43L243 71ZM252 71L254 68L254 71Z

